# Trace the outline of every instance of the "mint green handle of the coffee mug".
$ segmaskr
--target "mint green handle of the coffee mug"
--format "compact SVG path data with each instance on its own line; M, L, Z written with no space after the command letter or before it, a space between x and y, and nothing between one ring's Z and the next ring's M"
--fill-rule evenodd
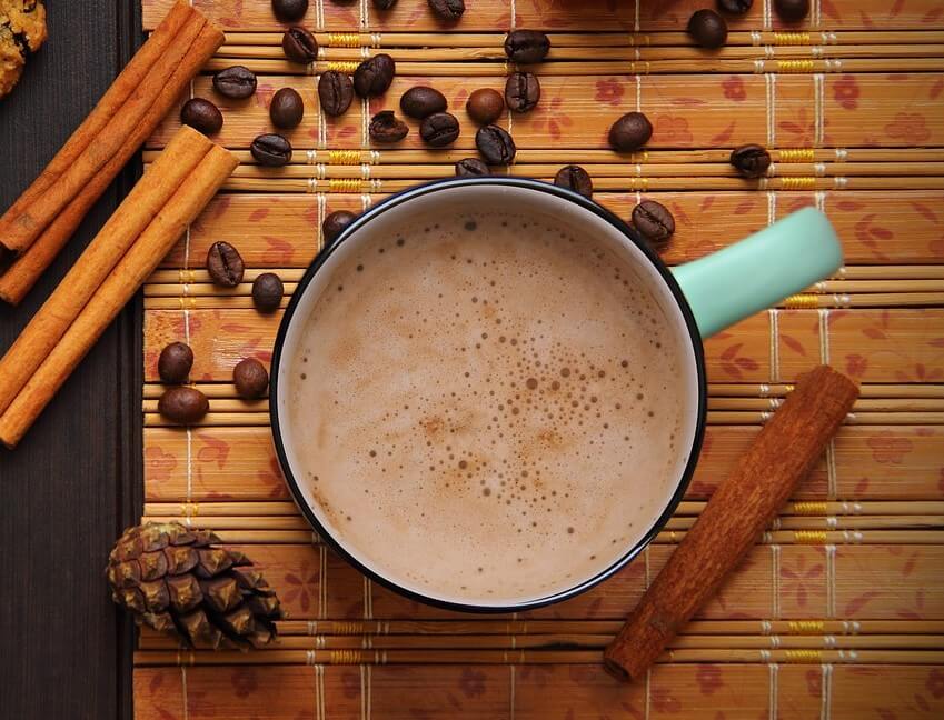
M804 208L746 240L675 268L703 338L828 278L843 264L829 221Z

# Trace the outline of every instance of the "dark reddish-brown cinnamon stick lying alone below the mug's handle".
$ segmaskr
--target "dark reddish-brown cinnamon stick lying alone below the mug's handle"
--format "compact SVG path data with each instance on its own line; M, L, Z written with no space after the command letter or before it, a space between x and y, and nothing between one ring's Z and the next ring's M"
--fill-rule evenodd
M645 677L809 473L857 397L858 387L827 366L797 379L607 647L612 674Z

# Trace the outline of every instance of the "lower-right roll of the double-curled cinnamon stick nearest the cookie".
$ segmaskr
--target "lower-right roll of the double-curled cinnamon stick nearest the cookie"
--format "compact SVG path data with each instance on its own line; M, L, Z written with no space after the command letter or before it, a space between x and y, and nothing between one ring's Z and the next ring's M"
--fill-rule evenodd
M0 299L18 304L29 292L43 270L49 267L68 242L95 201L105 192L128 159L150 137L153 129L177 102L195 74L212 57L221 42L220 31L207 24L197 36L188 54L165 80L165 86L132 129L121 148L79 191L76 198L56 217L37 241L0 276Z

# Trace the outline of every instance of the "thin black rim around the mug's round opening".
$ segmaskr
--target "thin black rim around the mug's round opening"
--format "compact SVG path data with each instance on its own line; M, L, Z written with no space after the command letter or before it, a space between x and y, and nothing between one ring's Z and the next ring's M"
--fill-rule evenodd
M639 250L642 250L642 252L646 256L649 262L655 267L655 269L662 276L663 281L668 287L668 290L675 299L676 303L678 304L682 311L682 316L685 319L685 326L688 330L688 337L692 342L692 352L695 358L695 367L698 374L698 398L695 434L692 440L692 447L688 453L688 461L685 464L685 469L678 479L678 484L675 491L673 492L673 496L669 499L665 511L653 522L649 530L638 540L638 542L636 542L630 548L627 548L627 550L617 560L615 560L604 570L597 572L593 577L583 580L582 582L566 590L552 593L544 598L537 598L535 600L528 600L525 602L518 602L507 606L480 606L466 602L451 602L448 600L443 600L440 598L429 597L423 594L421 592L405 588L394 582L392 580L385 578L382 574L379 574L376 570L366 567L364 563L357 560L357 558L351 556L345 548L344 542L335 538L327 530L327 528L321 524L321 522L315 516L314 510L308 506L308 502L306 501L305 496L301 492L300 486L295 479L295 476L291 472L291 467L288 462L288 456L286 453L285 443L282 442L281 422L279 420L278 412L278 386L280 374L279 369L282 360L282 348L285 346L286 337L288 336L289 326L291 324L292 318L295 317L295 311L298 308L301 298L305 296L308 286L311 283L311 281L315 279L315 276L318 273L321 267L324 267L325 262L335 252L335 250L337 250L338 247L354 232L370 222L370 220L409 200L425 194L429 194L431 192L438 192L440 190L477 186L498 186L507 188L536 190L539 192L556 196L562 200L567 200L579 206L584 210L593 212L597 217L607 221L623 236L628 238L630 242L633 242ZM548 182L541 182L539 180L530 180L526 178L501 178L488 176L434 180L433 182L415 186L407 190L403 190L394 196L390 196L389 198L385 199L384 201L379 202L378 204L374 206L371 209L367 210L361 216L359 216L354 222L351 222L347 228L345 228L344 232L341 232L341 234L338 236L338 238L335 239L334 242L325 246L321 252L319 252L311 261L311 264L308 267L308 270L306 270L305 276L299 281L298 287L292 293L291 300L289 300L285 314L282 316L281 323L279 324L279 331L276 336L276 342L272 349L272 363L270 377L271 382L269 388L269 417L271 421L272 440L275 442L276 454L278 457L279 466L281 467L286 484L288 486L288 489L291 492L296 504L298 506L299 510L305 516L309 524L311 524L314 530L318 533L318 537L321 538L324 542L328 543L339 556L341 556L350 564L352 564L360 572L362 572L369 579L374 580L380 586L387 588L388 590L392 590L394 592L401 594L410 600L416 600L418 602L423 602L437 608L443 608L446 610L458 610L465 612L480 613L521 612L525 610L534 610L536 608L543 608L545 606L560 602L563 600L569 600L570 598L575 598L576 596L586 592L594 586L603 582L607 578L622 570L640 552L643 552L646 547L648 547L648 544L655 539L655 537L665 527L665 524L668 522L668 519L675 512L675 509L682 501L682 498L685 494L686 489L688 488L688 483L692 480L692 476L695 472L695 466L698 461L698 453L702 449L702 440L705 434L707 403L707 382L705 380L705 352L704 348L702 347L702 336L699 334L698 328L695 323L695 316L692 312L692 308L688 306L688 301L682 293L682 289L678 287L675 277L672 274L672 272L662 261L662 259L655 253L655 251L649 248L648 244L642 239L642 237L609 210L603 208L602 206L598 206L592 200L587 200L583 196L577 194L576 192L573 192L570 190L559 188Z

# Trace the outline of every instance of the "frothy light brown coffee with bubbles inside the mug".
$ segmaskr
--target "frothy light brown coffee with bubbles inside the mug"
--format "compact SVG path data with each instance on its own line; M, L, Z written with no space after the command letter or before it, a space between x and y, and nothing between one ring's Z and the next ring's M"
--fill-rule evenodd
M682 349L624 260L549 219L411 218L334 273L288 368L297 469L358 559L441 599L605 569L678 481Z

